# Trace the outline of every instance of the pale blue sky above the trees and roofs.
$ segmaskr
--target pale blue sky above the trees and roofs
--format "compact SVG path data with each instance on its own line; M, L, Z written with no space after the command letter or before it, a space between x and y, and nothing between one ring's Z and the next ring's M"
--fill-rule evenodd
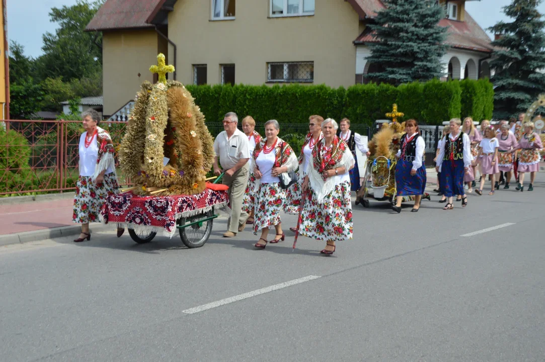
M507 20L501 7L510 2L511 0L467 1L465 9L486 29L499 20ZM39 57L42 54L42 34L53 33L56 29L56 24L49 21L50 9L74 5L76 0L8 0L7 3L9 40L23 45L27 56ZM545 3L540 5L539 10L545 14Z

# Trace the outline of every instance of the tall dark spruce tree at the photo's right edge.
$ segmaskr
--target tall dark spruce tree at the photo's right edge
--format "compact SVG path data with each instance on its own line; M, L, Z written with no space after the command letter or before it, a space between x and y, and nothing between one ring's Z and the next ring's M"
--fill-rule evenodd
M495 71L494 117L507 119L525 112L545 91L545 22L537 11L542 0L513 0L503 8L512 22L498 22L490 68Z

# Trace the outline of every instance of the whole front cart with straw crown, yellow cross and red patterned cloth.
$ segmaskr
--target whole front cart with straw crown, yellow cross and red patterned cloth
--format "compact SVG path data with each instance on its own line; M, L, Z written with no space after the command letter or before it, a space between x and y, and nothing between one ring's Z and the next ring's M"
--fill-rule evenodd
M137 243L178 230L187 247L198 248L210 237L215 208L227 206L227 187L217 184L221 176L207 182L214 139L204 114L183 84L167 81L174 67L164 54L157 60L150 71L159 80L142 83L119 146L120 168L134 186L108 197L102 218L128 228Z

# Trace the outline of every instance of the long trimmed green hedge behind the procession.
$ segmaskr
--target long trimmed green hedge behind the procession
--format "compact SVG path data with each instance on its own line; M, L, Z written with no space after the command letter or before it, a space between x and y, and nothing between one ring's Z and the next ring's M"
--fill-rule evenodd
M348 117L355 124L371 125L385 119L397 103L404 119L441 124L451 118L490 118L494 91L487 79L466 79L426 83L356 84L348 89L326 85L188 85L195 102L210 122L223 119L227 112L241 118L250 114L258 122L277 119L285 123L306 123L311 114L324 118Z

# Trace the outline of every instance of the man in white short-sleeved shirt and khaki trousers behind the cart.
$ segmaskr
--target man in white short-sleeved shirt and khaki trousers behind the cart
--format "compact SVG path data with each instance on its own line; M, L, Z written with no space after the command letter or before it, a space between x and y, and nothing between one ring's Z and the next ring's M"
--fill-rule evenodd
M214 141L214 174L220 175L221 170L217 165L217 157L220 157L221 167L225 171L223 185L229 186L229 204L231 204L231 217L227 222L227 232L223 237L233 237L238 231L244 230L248 214L242 211L244 191L248 183L250 163L250 150L248 138L238 128L238 116L229 112L223 118L225 131L217 135Z

